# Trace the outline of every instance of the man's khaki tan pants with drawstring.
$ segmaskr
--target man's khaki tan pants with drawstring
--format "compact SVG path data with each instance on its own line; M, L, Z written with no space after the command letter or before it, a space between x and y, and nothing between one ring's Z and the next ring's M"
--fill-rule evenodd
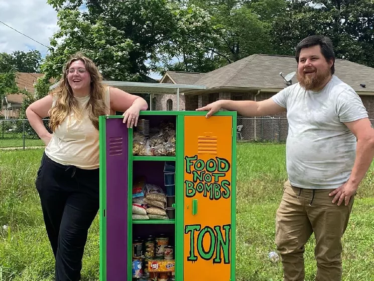
M337 206L328 195L331 191L295 188L286 181L277 211L275 238L285 281L304 280L304 245L313 232L316 281L341 280L341 237L348 224L354 196L348 206L344 201Z

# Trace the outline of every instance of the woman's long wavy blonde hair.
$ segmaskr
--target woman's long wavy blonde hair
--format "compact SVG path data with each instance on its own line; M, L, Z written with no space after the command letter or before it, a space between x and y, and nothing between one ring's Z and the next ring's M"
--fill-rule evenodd
M57 127L70 114L71 111L74 112L76 119L80 120L82 118L82 110L79 109L78 102L76 99L74 99L73 90L71 89L66 73L70 65L77 60L81 60L84 63L85 68L91 76L90 98L87 103L86 110L88 112L89 119L97 130L99 129L99 116L107 114L108 109L104 101L106 86L101 83L102 76L100 72L92 60L85 57L82 53L76 53L65 64L62 73L63 76L59 82L59 85L52 93L52 95L57 95L56 104L49 112L49 126L52 131L57 129Z

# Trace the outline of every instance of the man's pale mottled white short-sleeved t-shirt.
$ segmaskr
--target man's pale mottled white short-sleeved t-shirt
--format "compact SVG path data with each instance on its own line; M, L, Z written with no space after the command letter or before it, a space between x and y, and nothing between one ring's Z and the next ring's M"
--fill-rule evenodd
M334 189L346 182L357 142L344 122L368 117L357 93L333 75L320 91L306 90L297 83L272 99L287 109L290 183L299 188Z

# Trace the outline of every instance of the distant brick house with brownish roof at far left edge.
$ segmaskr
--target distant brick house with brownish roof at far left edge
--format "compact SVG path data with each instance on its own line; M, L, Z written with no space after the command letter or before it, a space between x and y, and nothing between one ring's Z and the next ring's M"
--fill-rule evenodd
M41 73L16 73L16 84L19 89L26 89L30 93L34 93L34 83L39 77L42 77L44 74ZM6 119L17 119L20 116L20 109L23 102L22 94L12 94L6 96L1 101L1 111L0 115L4 116Z

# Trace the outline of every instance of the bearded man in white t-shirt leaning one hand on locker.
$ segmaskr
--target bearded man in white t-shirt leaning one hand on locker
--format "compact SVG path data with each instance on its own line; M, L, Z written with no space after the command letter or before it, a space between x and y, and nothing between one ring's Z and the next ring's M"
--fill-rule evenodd
M244 116L287 110L287 173L276 215L276 244L284 280L304 280L304 245L314 232L317 281L341 280L341 237L354 195L374 156L374 130L357 93L334 74L330 39L310 36L296 48L299 83L262 101L221 100L220 109Z

